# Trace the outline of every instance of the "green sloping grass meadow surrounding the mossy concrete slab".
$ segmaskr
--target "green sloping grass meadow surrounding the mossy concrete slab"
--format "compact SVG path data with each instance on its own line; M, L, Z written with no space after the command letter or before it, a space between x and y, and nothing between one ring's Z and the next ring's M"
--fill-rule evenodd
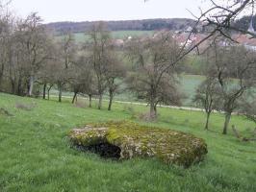
M31 110L15 104L35 106ZM127 108L132 108L127 110ZM69 147L67 132L90 122L130 119L148 108L114 104L113 111L77 108L65 100L42 101L0 94L0 191L256 191L256 143L222 135L223 116L214 114L203 131L202 112L159 108L158 122L138 123L191 132L208 144L209 154L190 169L156 159L122 162L80 153ZM254 124L233 116L240 132Z

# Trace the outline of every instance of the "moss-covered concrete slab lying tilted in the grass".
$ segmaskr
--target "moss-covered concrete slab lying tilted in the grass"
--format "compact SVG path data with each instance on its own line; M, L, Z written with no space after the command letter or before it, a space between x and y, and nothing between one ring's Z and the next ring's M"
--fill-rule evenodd
M203 139L184 132L145 127L131 122L93 124L70 132L74 145L89 147L110 143L120 148L120 159L155 156L168 164L188 167L203 159Z

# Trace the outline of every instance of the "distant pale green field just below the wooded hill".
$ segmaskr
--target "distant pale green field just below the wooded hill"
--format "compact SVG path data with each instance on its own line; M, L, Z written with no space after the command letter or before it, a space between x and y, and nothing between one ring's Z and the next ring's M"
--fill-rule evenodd
M121 38L121 39L125 39L128 36L150 36L153 35L154 31L116 31L116 32L112 32L112 36L114 38ZM61 38L62 36L57 36L57 38ZM86 35L85 33L76 33L74 34L74 38L75 41L77 43L83 43L85 42L85 40L87 40L89 38L88 35Z

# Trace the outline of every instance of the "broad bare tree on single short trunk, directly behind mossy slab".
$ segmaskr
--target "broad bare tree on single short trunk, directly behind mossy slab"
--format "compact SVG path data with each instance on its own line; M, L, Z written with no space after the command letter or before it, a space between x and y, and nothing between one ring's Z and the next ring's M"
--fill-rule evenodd
M179 60L180 47L172 35L161 32L153 38L133 39L127 51L136 64L128 84L148 102L150 117L156 117L158 104L180 105L175 78L175 63Z

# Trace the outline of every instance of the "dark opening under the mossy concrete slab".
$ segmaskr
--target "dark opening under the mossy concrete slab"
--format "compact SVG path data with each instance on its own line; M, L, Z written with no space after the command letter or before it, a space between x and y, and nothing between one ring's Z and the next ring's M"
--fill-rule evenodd
M115 145L112 145L107 142L101 142L94 145L90 145L88 147L77 146L77 148L84 152L91 152L97 154L103 158L112 158L119 159L120 158L120 148Z

